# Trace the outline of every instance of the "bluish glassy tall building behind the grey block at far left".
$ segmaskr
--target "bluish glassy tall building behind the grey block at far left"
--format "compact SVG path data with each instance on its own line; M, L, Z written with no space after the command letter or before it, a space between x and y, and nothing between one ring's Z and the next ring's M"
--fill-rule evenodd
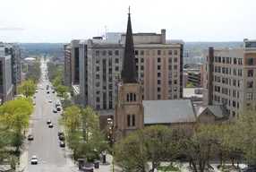
M0 47L4 47L5 55L11 55L12 59L12 82L14 95L17 94L17 87L21 83L21 48L15 43L0 43Z

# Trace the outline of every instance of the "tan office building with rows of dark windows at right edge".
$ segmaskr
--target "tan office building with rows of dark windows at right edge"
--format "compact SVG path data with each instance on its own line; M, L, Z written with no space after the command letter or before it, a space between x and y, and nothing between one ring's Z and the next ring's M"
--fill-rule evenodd
M256 40L243 40L243 47L204 51L203 103L225 104L231 116L255 108Z

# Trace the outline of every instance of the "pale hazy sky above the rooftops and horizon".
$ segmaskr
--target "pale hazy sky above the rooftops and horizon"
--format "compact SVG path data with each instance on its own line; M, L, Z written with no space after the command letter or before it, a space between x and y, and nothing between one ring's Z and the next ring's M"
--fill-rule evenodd
M166 29L166 39L256 39L256 0L0 0L0 41L70 42ZM19 29L19 30L17 30Z

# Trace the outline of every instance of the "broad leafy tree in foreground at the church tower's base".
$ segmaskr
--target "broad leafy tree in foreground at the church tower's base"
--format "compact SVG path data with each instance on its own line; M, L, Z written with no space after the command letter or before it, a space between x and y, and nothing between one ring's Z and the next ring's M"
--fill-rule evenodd
M117 166L126 171L153 172L161 161L174 161L178 153L178 140L174 130L153 125L116 142L113 153Z

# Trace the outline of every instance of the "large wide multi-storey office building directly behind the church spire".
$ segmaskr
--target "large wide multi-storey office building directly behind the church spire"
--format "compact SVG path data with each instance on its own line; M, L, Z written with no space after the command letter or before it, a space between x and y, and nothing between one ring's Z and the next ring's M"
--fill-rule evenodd
M138 76L143 86L142 98L183 98L183 41L166 40L166 30L161 30L161 34L137 33L132 36ZM88 62L87 72L82 67L80 69L83 75L80 81L82 104L89 104L94 109L114 108L124 42L125 35L121 35L120 40L89 39L81 42L80 51L84 53L80 54L80 64L86 66L86 59Z

